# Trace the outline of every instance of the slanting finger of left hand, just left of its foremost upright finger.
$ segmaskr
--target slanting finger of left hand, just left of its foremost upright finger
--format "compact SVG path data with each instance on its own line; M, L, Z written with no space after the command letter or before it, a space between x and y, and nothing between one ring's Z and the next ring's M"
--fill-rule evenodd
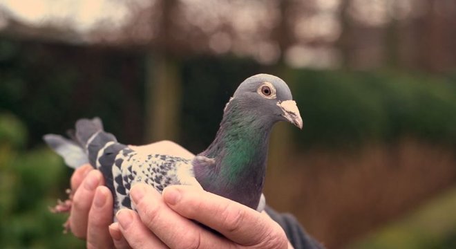
M92 206L95 189L102 185L102 179L101 172L91 170L82 181L81 187L77 188L73 197L70 213L71 232L81 239L86 238L88 212Z

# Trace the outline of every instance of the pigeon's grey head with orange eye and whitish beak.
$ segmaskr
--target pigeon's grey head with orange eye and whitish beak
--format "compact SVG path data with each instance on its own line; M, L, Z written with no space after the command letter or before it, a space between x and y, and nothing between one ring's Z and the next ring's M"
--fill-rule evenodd
M238 86L230 102L233 100L243 103L245 109L253 111L259 118L267 118L272 123L287 121L303 128L292 93L279 77L268 74L251 76Z

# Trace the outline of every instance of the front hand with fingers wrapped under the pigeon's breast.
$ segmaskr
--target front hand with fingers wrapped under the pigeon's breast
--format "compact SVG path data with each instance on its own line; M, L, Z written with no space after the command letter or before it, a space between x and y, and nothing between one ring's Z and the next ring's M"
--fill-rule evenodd
M117 248L292 248L265 212L196 187L173 185L160 195L140 183L130 195L137 212L120 210L118 224L111 225L111 234L123 241Z

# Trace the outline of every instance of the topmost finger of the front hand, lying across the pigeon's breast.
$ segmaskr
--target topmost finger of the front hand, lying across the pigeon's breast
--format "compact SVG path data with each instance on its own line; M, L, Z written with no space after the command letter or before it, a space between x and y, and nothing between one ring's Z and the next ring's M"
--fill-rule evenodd
M275 221L245 205L196 187L173 185L164 189L164 201L188 219L199 221L243 246L287 240Z

